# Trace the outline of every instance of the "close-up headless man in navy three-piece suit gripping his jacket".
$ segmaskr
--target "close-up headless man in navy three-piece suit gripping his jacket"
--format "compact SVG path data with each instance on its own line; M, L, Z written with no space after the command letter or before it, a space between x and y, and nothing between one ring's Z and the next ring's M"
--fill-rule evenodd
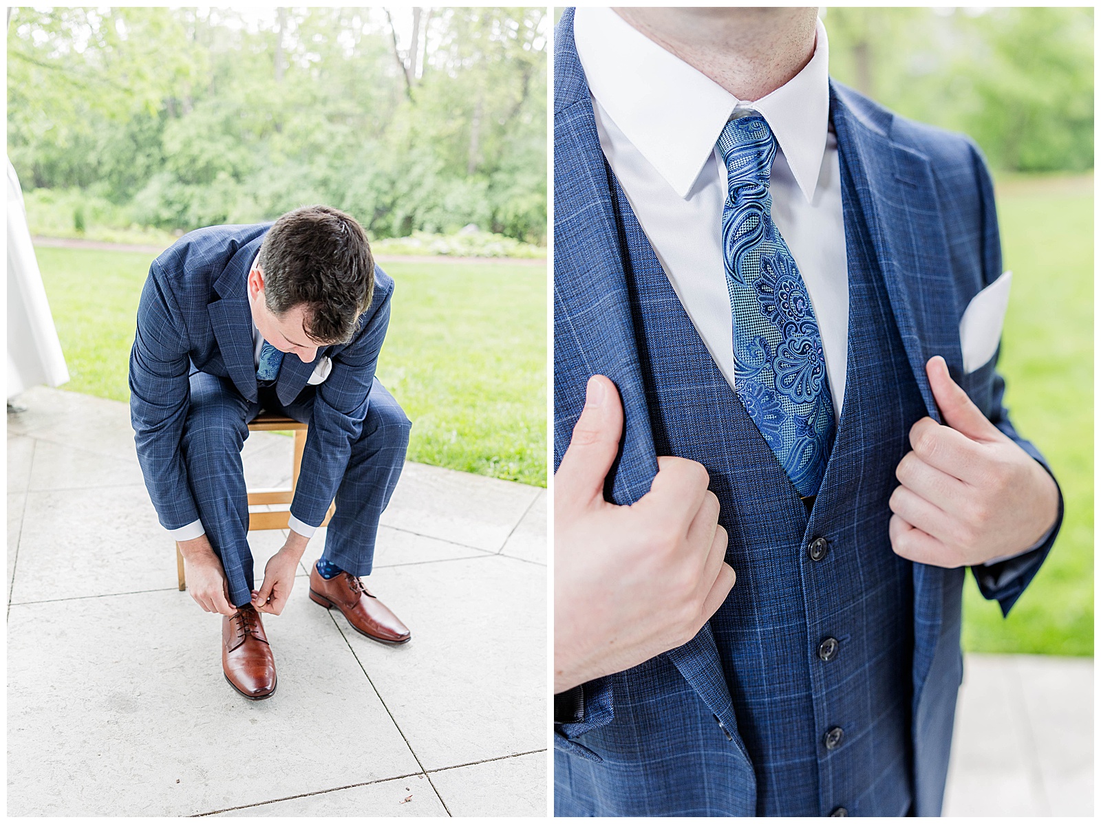
M964 568L1007 612L1058 532L981 155L827 59L815 9L558 25L557 814L939 814Z

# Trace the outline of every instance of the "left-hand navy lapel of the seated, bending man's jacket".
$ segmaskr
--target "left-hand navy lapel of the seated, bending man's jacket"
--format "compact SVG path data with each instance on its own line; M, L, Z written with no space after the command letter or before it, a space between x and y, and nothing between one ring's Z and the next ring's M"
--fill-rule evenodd
M257 369L252 360L252 311L249 309L248 275L263 237L237 250L214 284L218 300L207 305L210 326L221 360L233 385L249 400L257 399Z

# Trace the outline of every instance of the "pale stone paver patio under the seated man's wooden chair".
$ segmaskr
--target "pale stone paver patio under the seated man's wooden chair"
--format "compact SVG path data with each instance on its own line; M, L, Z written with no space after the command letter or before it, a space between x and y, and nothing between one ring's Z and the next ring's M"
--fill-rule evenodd
M9 815L544 815L546 491L408 463L369 579L374 644L307 597L264 619L279 690L222 680L176 589L124 404L37 387L8 415ZM291 439L246 443L290 483ZM284 532L253 532L259 571Z

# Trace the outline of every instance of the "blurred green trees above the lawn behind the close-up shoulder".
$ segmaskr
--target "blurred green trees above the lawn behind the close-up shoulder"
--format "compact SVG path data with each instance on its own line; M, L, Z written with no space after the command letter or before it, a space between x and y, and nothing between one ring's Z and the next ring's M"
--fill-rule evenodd
M1093 168L1093 9L822 10L830 75L1004 172Z

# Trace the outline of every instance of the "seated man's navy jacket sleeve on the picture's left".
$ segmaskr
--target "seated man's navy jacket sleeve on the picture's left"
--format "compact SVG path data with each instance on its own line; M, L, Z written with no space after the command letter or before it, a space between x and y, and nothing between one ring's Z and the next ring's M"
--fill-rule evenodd
M166 529L199 517L181 451L190 397L188 371L183 315L154 261L138 304L138 330L130 350L130 420L145 487Z

